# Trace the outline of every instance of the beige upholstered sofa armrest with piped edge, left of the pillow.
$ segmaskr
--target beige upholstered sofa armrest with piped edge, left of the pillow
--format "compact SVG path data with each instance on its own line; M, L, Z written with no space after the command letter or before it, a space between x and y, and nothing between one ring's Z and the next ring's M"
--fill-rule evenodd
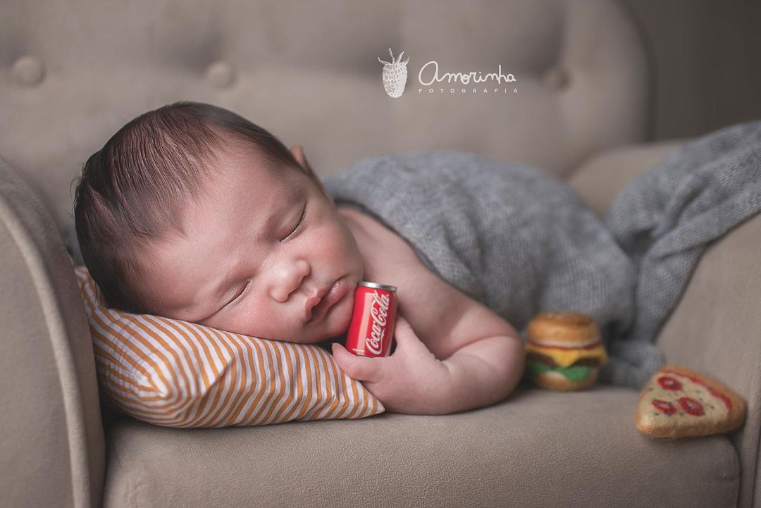
M103 428L88 318L53 220L0 160L3 506L100 506Z

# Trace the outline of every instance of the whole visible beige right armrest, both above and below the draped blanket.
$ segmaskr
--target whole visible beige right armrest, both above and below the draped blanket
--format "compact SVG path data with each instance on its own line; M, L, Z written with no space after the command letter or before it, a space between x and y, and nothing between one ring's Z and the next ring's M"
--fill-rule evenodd
M626 183L661 162L681 142L600 154L572 173L568 183L605 217ZM761 506L761 471L756 467L761 434L759 251L761 215L710 244L657 339L667 362L714 376L748 402L744 426L730 436L741 464L738 506Z

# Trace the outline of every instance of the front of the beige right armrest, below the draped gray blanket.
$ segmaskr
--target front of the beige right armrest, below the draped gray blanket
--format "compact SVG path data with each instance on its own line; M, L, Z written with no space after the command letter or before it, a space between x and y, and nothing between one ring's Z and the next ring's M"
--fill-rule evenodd
M761 215L709 245L658 335L658 346L667 361L720 379L748 402L744 427L731 435L742 464L738 506L751 506L754 497L753 506L761 506L761 471L757 471L761 435L759 252Z

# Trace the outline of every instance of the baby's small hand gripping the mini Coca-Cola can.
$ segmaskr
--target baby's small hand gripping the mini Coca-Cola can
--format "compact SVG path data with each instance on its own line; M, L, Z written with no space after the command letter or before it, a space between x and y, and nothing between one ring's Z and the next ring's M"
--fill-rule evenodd
M383 402L387 411L441 414L447 411L450 375L401 315L394 329L396 351L388 357L360 357L333 343L333 357L349 377Z

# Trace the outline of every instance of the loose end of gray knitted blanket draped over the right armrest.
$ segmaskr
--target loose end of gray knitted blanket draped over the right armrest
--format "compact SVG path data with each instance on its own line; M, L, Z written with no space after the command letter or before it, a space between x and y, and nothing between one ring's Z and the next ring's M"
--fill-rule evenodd
M631 259L637 284L632 328L608 344L613 362L605 374L611 383L647 381L658 358L652 341L700 256L759 211L761 121L684 144L619 193L606 225Z

